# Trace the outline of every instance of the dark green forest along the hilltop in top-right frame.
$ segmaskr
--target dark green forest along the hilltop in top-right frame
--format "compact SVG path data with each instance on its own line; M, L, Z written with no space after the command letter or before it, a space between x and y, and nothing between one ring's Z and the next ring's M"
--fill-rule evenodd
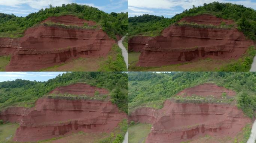
M203 6L184 10L173 18L163 18L153 15L143 15L130 17L129 34L130 35L160 35L161 31L170 24L178 22L186 16L195 16L204 13L213 14L219 18L232 19L237 24L237 29L242 31L248 38L256 39L256 11L243 5L232 3L213 2ZM153 33L153 34L152 34Z

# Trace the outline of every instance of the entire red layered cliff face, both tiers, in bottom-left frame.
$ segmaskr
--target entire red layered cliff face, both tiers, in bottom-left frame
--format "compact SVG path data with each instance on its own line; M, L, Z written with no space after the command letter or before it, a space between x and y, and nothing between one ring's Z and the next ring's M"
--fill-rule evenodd
M85 89L81 90L82 87ZM86 90L89 90L88 93L92 90L108 93L106 89L85 84L60 87L53 91L62 89L64 92L79 94ZM109 133L126 118L127 114L110 101L62 99L61 96L58 99L47 96L40 98L32 108L10 107L0 112L0 120L20 124L13 137L15 142L37 142L79 131Z

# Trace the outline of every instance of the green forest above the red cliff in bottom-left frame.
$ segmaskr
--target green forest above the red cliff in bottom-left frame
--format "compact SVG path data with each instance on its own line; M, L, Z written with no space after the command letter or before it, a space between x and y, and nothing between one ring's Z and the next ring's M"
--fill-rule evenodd
M8 106L32 107L35 101L51 90L77 82L110 91L111 101L128 112L128 76L122 72L68 72L46 82L16 79L0 83L0 108Z

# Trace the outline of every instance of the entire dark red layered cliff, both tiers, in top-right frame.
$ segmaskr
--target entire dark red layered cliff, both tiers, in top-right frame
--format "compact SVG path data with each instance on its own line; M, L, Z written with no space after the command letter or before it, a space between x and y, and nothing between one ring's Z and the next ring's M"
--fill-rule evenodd
M207 25L220 25L222 21L234 23L212 15L186 17L180 21ZM171 25L162 31L161 36L134 36L128 44L129 50L141 51L137 66L163 66L203 58L238 59L253 41L247 40L236 28Z

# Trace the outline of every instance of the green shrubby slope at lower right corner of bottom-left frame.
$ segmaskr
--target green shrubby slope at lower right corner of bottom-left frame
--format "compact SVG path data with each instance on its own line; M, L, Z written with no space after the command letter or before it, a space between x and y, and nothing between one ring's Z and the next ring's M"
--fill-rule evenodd
M125 133L127 132L128 124L127 120L122 120L114 132L110 134L106 139L101 140L99 143L122 143Z

